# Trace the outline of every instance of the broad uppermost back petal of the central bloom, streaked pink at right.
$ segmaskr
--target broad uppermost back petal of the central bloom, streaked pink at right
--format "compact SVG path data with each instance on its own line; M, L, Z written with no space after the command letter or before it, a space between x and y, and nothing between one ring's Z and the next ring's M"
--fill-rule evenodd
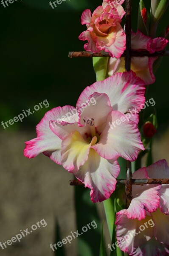
M139 112L141 104L145 103L145 83L133 71L116 73L104 81L97 81L90 87L86 87L78 99L77 108L81 108L81 105L94 92L106 93L113 110L122 113L128 112L129 109L135 110L135 108Z

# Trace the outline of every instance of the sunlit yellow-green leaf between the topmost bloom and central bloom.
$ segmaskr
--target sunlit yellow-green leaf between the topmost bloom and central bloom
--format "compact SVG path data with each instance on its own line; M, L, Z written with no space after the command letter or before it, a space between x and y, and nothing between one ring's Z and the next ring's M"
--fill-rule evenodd
M96 80L103 81L107 78L107 64L109 57L94 57L93 67L96 73Z

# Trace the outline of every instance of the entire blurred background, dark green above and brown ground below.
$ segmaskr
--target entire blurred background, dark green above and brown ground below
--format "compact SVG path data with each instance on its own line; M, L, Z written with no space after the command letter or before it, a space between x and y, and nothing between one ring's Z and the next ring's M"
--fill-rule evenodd
M132 29L136 31L139 1L132 2ZM146 2L149 9L150 0ZM17 0L6 8L0 4L0 123L32 110L45 99L49 103L23 122L6 129L0 125L0 241L30 229L43 218L47 223L20 242L4 250L0 247L2 256L99 255L99 219L105 219L102 203L90 202L89 189L76 187L75 192L69 186L73 177L48 157L41 154L28 160L23 149L25 141L36 137L36 125L46 111L75 106L82 90L96 81L92 59L69 59L68 52L83 50L84 42L78 39L85 30L80 23L82 11L94 11L101 4L101 0L66 0L54 9L48 0ZM163 16L158 35L168 26L168 15ZM169 162L168 63L164 57L147 99L155 100L158 117L154 161L166 158ZM147 108L146 115L152 110ZM93 220L98 224L95 230L51 250L50 244Z

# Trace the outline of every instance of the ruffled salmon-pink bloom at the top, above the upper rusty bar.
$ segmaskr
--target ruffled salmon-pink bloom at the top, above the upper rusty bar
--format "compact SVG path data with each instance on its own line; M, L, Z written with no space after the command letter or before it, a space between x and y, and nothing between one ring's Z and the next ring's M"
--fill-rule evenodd
M86 51L104 50L112 57L120 58L126 49L126 35L120 25L125 12L122 6L116 9L107 4L104 7L97 7L93 14L89 9L82 13L81 23L86 24L87 30L79 35L79 39L88 41L84 45Z

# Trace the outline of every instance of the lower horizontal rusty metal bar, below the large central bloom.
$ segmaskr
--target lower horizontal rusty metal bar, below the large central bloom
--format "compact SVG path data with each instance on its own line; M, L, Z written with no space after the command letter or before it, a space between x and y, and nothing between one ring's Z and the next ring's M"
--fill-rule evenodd
M169 179L131 179L132 185L169 185ZM126 185L126 180L118 179L117 185ZM84 186L79 180L70 180L70 186Z

